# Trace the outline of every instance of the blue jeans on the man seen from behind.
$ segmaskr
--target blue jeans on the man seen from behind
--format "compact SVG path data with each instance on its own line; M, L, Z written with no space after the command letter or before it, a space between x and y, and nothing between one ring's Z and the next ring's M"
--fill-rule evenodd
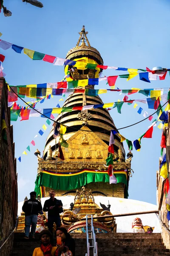
M31 214L26 216L25 218L25 236L29 237L29 230L31 227L31 236L34 236L35 230L37 226L37 215L36 214Z

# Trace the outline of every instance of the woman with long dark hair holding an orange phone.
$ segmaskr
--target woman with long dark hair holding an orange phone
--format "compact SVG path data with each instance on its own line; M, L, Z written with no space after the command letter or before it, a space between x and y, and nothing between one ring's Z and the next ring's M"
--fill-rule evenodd
M71 238L70 234L64 227L57 227L56 236L61 237L62 245L56 244L57 250L54 256L60 256L63 253L70 250L72 255L75 256L75 241Z

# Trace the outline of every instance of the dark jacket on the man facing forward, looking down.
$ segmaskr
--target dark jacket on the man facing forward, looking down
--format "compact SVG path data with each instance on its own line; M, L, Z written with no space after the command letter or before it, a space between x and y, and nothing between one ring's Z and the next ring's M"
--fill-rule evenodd
M51 206L55 206L52 210L49 208ZM50 198L45 201L43 212L48 212L48 216L59 216L59 213L63 212L62 208L59 208L59 206L62 206L62 201L54 198L54 201Z

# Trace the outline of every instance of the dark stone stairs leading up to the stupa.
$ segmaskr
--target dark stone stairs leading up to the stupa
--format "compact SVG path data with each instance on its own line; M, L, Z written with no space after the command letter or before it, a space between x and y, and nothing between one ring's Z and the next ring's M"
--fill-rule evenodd
M38 235L36 235L34 240L23 239L23 236L23 233L15 233L14 248L11 256L32 256L34 248L40 247ZM71 236L76 242L76 256L85 256L85 234L72 233ZM98 256L170 256L170 250L166 249L162 243L160 233L97 233L96 241Z

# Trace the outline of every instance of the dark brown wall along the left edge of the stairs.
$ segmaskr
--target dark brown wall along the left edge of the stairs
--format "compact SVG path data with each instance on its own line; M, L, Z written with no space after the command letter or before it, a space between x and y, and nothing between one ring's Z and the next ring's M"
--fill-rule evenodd
M2 134L2 114L5 113L6 139ZM15 227L17 217L17 173L14 158L13 128L10 126L8 91L5 79L0 78L0 246ZM0 250L0 256L9 255L13 235Z

